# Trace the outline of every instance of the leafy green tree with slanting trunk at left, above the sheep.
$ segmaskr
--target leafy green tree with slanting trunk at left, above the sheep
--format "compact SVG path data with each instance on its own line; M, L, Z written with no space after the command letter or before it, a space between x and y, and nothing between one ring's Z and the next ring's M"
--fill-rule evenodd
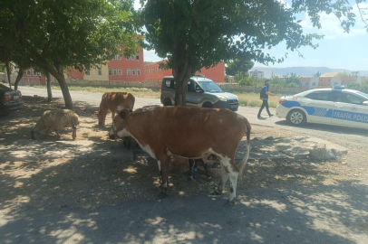
M73 108L64 79L67 66L90 70L116 53L130 56L140 44L131 0L1 1L0 15L0 44L50 72L66 108ZM3 42L5 36L11 42Z

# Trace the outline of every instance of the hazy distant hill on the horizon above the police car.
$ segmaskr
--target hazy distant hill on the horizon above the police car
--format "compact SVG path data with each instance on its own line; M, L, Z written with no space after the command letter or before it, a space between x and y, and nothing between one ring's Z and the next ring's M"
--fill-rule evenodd
M268 68L268 67L253 67L250 71L259 70L265 72L265 77L270 78L272 73L274 75L283 76L290 73L295 73L303 77L313 77L316 72L321 74L329 72L347 72L358 71L358 70L344 70L344 69L330 69L327 67L287 67L287 68ZM359 70L360 76L368 76L368 70Z

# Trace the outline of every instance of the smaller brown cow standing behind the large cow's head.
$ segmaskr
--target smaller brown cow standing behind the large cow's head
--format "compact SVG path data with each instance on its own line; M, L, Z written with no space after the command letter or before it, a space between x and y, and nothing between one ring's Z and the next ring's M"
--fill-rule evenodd
M99 111L96 115L99 118L99 126L105 126L107 113L111 112L111 117L115 116L115 111L121 108L133 109L135 98L128 92L106 92L102 95Z

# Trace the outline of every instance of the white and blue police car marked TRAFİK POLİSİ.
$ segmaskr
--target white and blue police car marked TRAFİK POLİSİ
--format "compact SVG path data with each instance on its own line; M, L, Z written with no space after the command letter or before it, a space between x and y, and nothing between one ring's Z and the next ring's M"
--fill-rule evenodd
M296 126L308 122L368 128L368 94L358 90L310 89L278 103L276 116Z

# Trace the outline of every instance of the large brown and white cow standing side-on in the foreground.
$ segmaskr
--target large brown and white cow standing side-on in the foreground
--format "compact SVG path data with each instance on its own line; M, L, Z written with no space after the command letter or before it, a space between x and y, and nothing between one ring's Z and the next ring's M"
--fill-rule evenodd
M206 160L213 154L218 157L222 168L221 181L215 192L221 194L229 178L228 201L235 201L237 177L241 179L249 155L251 127L247 118L228 109L187 107L158 107L134 112L122 109L119 115L123 120L113 120L110 135L132 136L144 151L158 161L162 179L161 197L166 196L168 188L168 155ZM247 154L237 165L237 146L245 135Z

